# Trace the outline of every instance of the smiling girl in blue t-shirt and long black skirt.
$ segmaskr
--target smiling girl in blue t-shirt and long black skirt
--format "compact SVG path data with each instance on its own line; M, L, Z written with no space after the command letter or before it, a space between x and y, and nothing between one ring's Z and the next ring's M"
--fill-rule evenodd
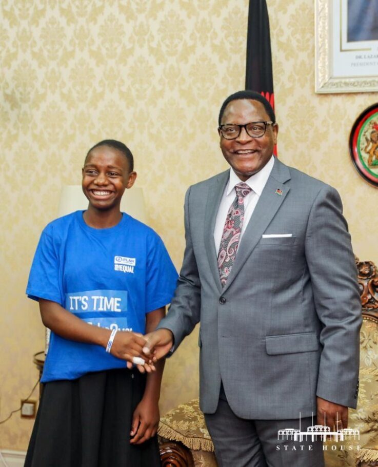
M143 335L164 317L177 273L160 237L120 210L135 178L123 143L96 144L83 168L88 209L39 240L27 294L51 338L25 467L160 465L164 362L144 362Z

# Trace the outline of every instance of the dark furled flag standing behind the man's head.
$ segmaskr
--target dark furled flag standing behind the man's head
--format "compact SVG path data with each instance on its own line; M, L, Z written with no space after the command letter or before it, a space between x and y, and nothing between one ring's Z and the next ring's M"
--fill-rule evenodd
M272 54L266 0L249 0L246 89L260 92L274 109ZM277 155L277 147L274 147Z

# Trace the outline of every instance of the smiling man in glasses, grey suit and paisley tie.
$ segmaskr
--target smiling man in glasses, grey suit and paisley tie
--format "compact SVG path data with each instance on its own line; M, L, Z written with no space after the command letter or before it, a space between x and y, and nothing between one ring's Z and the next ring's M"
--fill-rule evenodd
M180 279L144 351L161 358L201 321L200 404L218 464L321 467L320 440L277 433L316 417L346 428L356 406L361 302L341 200L273 157L278 125L260 94L229 96L218 123L231 168L186 193Z

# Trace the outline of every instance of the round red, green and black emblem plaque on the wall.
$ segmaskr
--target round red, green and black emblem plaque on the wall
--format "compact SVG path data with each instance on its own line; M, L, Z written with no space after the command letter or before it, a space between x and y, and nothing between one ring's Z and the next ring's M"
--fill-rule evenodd
M349 153L360 175L378 188L378 103L365 109L354 122Z

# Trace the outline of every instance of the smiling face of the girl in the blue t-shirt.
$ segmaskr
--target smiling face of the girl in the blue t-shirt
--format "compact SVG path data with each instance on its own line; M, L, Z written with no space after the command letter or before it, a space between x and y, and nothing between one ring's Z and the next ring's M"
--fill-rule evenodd
M126 156L109 146L92 149L82 173L83 192L89 207L101 211L120 210L125 189L131 188L136 179L136 172L130 171Z

